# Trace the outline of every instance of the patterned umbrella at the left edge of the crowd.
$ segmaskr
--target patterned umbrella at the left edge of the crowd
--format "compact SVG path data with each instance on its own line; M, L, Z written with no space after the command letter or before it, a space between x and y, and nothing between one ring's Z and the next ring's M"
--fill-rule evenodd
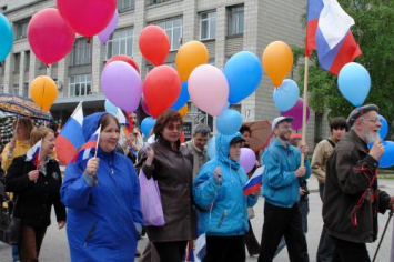
M0 111L31 119L51 119L51 114L43 112L31 99L7 93L0 94Z

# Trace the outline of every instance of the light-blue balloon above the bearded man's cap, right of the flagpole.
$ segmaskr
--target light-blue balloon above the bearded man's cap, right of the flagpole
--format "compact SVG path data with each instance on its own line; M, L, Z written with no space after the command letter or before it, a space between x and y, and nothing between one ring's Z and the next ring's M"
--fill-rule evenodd
M354 107L361 107L370 93L371 77L360 63L346 63L337 75L342 95Z

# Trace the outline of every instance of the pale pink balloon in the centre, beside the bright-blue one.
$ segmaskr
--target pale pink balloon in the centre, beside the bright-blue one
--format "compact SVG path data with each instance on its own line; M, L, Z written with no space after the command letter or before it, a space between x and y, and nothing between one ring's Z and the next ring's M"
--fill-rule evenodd
M228 80L220 69L211 64L202 64L193 70L188 89L195 105L212 117L223 111L229 99Z

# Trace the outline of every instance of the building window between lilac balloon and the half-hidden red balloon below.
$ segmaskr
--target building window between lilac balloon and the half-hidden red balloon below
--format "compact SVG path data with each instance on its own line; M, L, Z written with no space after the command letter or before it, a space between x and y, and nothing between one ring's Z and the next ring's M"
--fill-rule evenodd
M133 56L133 28L114 31L107 43L107 60L117 54Z

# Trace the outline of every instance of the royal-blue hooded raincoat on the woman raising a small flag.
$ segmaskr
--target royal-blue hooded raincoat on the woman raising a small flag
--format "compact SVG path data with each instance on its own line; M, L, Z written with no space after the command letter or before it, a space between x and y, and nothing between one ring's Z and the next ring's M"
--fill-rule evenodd
M95 131L102 115L94 113L84 119L85 139ZM88 160L69 163L65 169L60 193L69 208L71 261L134 261L142 224L139 179L124 155L99 148L98 158L97 185L84 173Z

